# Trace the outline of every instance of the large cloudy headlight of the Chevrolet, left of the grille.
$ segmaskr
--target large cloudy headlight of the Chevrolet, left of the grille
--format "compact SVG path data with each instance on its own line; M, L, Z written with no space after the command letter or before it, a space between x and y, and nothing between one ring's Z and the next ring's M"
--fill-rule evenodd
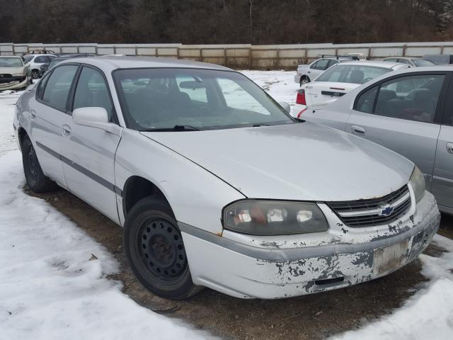
M225 229L256 235L324 232L326 217L315 203L242 200L224 208Z

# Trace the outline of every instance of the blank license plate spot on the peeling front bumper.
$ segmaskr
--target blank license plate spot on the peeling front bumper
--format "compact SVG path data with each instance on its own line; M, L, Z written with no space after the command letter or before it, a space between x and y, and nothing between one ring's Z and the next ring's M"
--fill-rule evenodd
M391 246L374 249L374 275L382 276L403 266L407 254L408 239Z

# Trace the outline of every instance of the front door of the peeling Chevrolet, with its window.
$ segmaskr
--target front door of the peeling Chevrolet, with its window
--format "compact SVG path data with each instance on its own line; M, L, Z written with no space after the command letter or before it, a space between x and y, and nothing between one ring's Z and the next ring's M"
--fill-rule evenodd
M98 69L83 67L74 91L72 111L101 107L115 123L110 91ZM120 136L105 130L74 124L71 115L64 120L66 130L62 153L64 175L70 191L119 222L115 194L115 152Z

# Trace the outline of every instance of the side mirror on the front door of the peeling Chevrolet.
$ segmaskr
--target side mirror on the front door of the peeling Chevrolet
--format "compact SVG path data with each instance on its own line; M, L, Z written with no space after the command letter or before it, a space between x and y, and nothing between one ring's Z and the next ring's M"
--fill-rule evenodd
M72 120L77 125L89 126L121 136L122 128L115 123L109 123L108 113L105 108L76 108L72 112Z

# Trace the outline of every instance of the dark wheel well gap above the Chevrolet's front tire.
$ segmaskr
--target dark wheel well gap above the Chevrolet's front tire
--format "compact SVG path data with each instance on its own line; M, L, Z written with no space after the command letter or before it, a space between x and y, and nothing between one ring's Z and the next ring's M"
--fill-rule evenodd
M151 181L140 176L127 179L122 191L122 210L125 216L139 200L147 196L159 198L170 207L164 193Z

